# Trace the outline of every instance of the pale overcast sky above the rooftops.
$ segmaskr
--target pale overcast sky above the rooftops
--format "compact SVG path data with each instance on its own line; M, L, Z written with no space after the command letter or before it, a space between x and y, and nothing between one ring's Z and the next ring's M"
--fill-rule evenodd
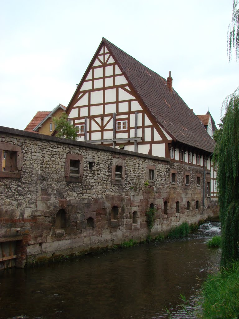
M228 62L230 0L0 0L0 126L68 106L102 37L163 78L195 114L220 122L239 85Z

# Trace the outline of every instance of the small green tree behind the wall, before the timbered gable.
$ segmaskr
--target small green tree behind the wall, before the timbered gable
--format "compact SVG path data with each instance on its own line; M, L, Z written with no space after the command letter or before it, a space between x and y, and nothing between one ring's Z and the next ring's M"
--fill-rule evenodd
M59 118L53 117L53 122L56 124L57 131L55 136L77 140L77 129L71 124L68 117L69 115L67 113L62 113Z

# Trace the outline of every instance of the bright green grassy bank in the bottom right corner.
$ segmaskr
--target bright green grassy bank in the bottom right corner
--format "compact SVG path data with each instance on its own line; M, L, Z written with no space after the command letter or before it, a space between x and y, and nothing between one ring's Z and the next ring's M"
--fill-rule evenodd
M202 285L202 319L239 317L239 262L210 275Z

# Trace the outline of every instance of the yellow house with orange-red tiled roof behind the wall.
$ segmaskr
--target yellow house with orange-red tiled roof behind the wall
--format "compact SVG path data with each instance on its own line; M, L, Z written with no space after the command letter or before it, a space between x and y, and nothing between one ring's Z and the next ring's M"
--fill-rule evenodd
M40 133L45 135L52 135L55 124L52 121L53 117L60 117L64 113L66 107L62 104L58 104L53 111L37 112L32 121L27 125L25 131Z

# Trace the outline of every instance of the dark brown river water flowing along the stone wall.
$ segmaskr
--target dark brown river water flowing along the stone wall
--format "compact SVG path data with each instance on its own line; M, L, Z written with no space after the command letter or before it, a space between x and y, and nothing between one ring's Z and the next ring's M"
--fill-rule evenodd
M196 300L201 279L220 261L206 241L219 223L180 241L87 255L0 272L0 318L187 318L180 294Z

